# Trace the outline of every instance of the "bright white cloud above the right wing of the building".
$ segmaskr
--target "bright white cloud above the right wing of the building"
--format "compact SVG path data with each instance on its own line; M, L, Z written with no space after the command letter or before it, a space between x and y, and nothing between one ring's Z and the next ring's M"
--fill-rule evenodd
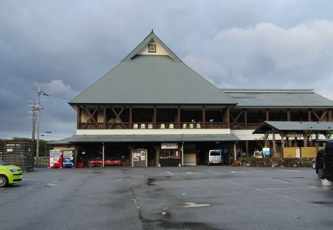
M263 22L223 30L215 40L231 47L232 55L267 55L276 70L291 70L333 55L333 21L306 21L290 29Z

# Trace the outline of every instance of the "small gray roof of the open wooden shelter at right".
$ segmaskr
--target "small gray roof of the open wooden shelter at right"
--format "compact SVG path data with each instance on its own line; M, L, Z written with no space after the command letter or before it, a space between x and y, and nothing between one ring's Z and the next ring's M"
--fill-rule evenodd
M333 130L333 122L265 121L253 133L263 133L272 129L275 131L327 131Z

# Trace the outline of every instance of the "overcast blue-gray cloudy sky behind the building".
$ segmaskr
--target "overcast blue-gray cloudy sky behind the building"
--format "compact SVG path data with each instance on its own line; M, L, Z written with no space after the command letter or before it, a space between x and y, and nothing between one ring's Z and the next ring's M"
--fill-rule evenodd
M75 133L80 91L150 32L220 88L307 88L333 100L333 2L0 2L0 138L31 137L38 86L40 134ZM46 133L52 132L52 133Z

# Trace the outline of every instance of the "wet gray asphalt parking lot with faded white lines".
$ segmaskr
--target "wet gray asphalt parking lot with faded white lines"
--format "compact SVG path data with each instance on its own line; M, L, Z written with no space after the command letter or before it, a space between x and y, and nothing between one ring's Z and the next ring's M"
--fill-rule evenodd
M0 189L0 229L332 229L310 168L36 168Z

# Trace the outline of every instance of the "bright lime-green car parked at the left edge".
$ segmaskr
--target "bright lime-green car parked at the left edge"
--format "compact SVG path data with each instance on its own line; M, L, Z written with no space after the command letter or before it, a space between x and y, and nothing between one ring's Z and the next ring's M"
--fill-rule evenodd
M22 181L23 171L18 166L8 165L0 159L0 188Z

